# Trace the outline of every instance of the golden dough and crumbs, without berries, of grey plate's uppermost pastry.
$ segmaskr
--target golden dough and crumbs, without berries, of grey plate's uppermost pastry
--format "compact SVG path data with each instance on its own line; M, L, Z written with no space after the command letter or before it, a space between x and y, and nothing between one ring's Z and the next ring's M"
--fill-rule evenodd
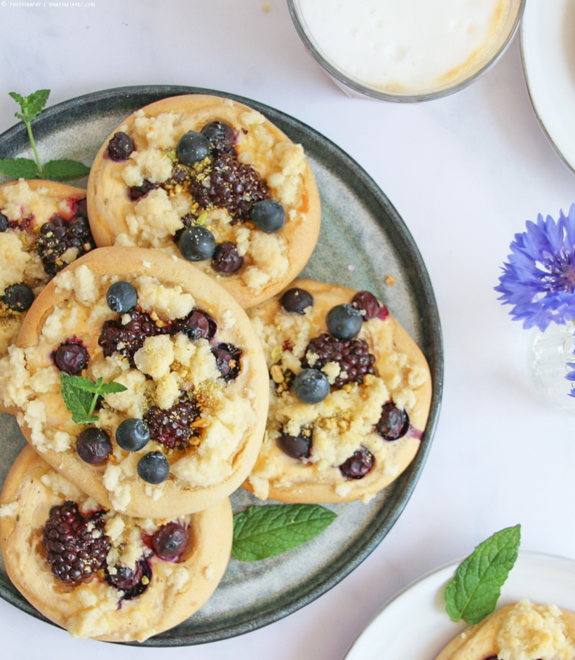
M285 208L285 224L273 234L265 234L251 222L231 224L229 213L217 204L198 208L187 182L161 186L172 173L165 149L172 149L175 158L180 137L211 121L234 128L238 161L253 166L266 181L271 198ZM116 132L130 135L136 146L125 161L107 155ZM209 177L210 163L207 168ZM132 201L129 188L146 180L158 187ZM209 187L209 178L203 182ZM182 218L200 216L217 243L236 243L243 265L229 275L212 269L209 261L194 265L217 278L244 308L276 294L297 276L309 260L320 229L318 189L302 147L250 107L208 95L163 99L123 121L104 142L90 170L88 211L97 245L139 245L177 256L180 250L172 236L184 227Z

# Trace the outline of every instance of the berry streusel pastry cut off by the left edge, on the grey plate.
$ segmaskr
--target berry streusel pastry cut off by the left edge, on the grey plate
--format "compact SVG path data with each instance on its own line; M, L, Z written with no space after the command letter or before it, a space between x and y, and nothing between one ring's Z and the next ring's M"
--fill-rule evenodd
M23 179L0 186L0 370L34 297L92 248L85 190ZM15 414L1 390L0 410Z

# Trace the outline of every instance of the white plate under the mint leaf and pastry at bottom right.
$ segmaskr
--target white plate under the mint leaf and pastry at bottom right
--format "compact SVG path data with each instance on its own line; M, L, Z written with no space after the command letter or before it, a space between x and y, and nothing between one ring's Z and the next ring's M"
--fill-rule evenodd
M443 592L461 560L424 575L398 593L353 642L345 660L433 660L466 624L445 612ZM575 561L520 552L497 607L529 598L575 610Z

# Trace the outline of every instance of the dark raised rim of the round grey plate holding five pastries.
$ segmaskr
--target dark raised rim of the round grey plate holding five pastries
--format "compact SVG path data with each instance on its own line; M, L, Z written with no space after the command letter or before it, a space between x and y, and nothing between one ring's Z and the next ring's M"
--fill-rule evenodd
M126 112L126 116L128 116L128 114L133 112L135 100L137 100L137 107L142 107L154 100L191 93L213 94L231 98L262 112L271 121L277 123L295 142L302 142L304 148L311 154L321 154L321 157L319 157L320 161L334 175L344 178L346 184L362 200L362 203L370 209L375 222L380 225L381 229L384 230L388 238L393 242L400 261L404 265L409 264L406 272L407 277L410 278L410 288L414 296L414 301L417 304L417 316L419 317L421 332L420 347L431 369L433 395L426 431L421 439L421 447L414 461L396 481L400 485L396 501L387 514L381 510L379 516L376 516L374 519L376 524L372 525L371 534L369 536L363 535L359 548L353 546L346 555L341 556L336 565L330 565L329 570L324 571L327 572L325 578L316 581L313 588L304 591L297 598L290 598L288 602L278 602L277 607L269 612L259 614L253 619L250 619L250 621L240 621L236 624L232 621L227 626L222 626L209 632L192 635L174 635L170 634L170 631L166 631L154 638L150 638L142 644L151 647L195 645L224 640L254 631L299 610L299 608L316 600L316 598L329 591L330 588L344 579L346 575L356 568L378 546L380 541L391 530L391 527L407 504L407 500L410 498L423 469L428 451L431 447L431 440L438 424L443 384L443 349L438 308L427 269L410 231L391 202L365 170L346 154L345 151L342 151L337 144L328 140L315 129L279 110L238 95L203 88L151 85L102 90L49 107L34 121L34 135L38 141L41 141L43 137L50 135L62 126L70 125L70 123L82 123L83 121L87 121L87 116L89 118L95 116L95 114L97 116L105 116L105 114L110 114L111 112L119 112L124 105L128 110ZM20 123L0 135L0 156L8 157L17 154L22 149L23 144L27 144L27 133L25 126ZM329 161L329 165L327 165L326 161ZM34 610L27 601L24 599L18 600L13 593L6 591L1 585L0 597L15 605L20 610L27 612L27 614L51 623L46 617L43 617L39 612ZM172 631L173 633L177 633L177 628L172 629ZM140 645L137 642L131 643Z

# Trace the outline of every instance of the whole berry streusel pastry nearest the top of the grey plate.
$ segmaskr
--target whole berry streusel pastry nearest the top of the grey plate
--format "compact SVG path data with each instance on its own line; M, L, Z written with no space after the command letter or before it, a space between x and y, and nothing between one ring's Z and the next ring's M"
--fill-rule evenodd
M183 256L244 308L297 276L320 229L302 146L254 109L200 94L114 130L90 170L88 211L97 245Z

